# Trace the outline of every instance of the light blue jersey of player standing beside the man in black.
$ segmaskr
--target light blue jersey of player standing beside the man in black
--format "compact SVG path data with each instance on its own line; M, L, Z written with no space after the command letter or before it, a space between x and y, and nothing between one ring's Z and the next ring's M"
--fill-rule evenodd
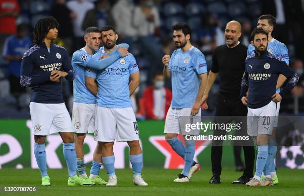
M171 55L168 69L172 81L171 107L192 107L200 86L198 75L207 73L204 54L194 46L186 52L177 49Z

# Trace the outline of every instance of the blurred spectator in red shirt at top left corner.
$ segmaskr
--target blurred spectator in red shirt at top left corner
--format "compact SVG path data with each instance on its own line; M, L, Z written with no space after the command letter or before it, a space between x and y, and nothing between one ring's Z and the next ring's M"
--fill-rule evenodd
M0 0L0 54L2 54L4 40L10 34L16 33L16 17L19 11L17 0Z

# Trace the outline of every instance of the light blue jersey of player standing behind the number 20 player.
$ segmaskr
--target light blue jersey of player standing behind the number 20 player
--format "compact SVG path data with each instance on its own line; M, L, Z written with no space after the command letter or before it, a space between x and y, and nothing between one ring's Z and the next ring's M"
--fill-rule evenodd
M254 46L252 44L249 44L247 49L247 57L254 54L254 50ZM279 42L275 38L272 38L272 40L268 43L267 51L270 54L279 57L281 61L285 61L287 64L289 64L288 49L284 43ZM280 93L280 88L277 90L277 93Z

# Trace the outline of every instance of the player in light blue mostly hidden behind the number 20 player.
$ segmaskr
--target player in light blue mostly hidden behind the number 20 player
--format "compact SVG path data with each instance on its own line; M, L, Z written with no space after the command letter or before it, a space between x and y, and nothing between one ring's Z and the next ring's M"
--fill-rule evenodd
M286 45L284 43L279 42L271 35L275 25L276 25L276 18L271 14L261 15L257 23L257 27L260 27L268 32L268 46L267 46L268 52L270 54L276 55L277 57L280 57L282 61L285 61L287 64L289 64L288 49ZM254 46L252 44L248 46L247 56L251 54L254 54ZM278 83L276 87L277 93L280 93L280 87L284 84L285 81L286 81L286 77L281 74L278 78ZM269 146L268 146L269 156L273 160L269 162L271 164L271 177L275 185L279 184L274 160L277 154L276 129L278 127L278 116L280 111L280 105L281 102L279 101L277 103L277 110L276 110L277 117L273 126L273 134L272 136L269 137ZM263 176L261 179L263 179Z

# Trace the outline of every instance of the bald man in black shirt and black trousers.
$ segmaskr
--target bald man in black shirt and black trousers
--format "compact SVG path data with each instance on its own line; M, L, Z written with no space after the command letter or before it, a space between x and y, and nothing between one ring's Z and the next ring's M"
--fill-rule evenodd
M212 58L212 68L209 72L208 82L202 98L202 108L207 109L207 99L210 89L220 74L220 95L218 96L215 116L247 116L247 107L239 100L241 80L244 74L244 61L247 55L247 47L240 44L241 25L237 21L230 21L226 25L226 44L215 49ZM233 119L233 117L231 118ZM243 123L245 125L245 123ZM246 132L246 127L242 127ZM214 131L215 135L225 135L225 130ZM219 141L217 141L219 142ZM223 142L223 141L222 141ZM250 141L251 142L251 141ZM209 183L220 184L222 172L223 146L213 141L211 148L211 161L213 176ZM245 184L253 177L254 146L243 146L245 157L245 170L243 175L232 184ZM231 155L232 156L232 155Z

